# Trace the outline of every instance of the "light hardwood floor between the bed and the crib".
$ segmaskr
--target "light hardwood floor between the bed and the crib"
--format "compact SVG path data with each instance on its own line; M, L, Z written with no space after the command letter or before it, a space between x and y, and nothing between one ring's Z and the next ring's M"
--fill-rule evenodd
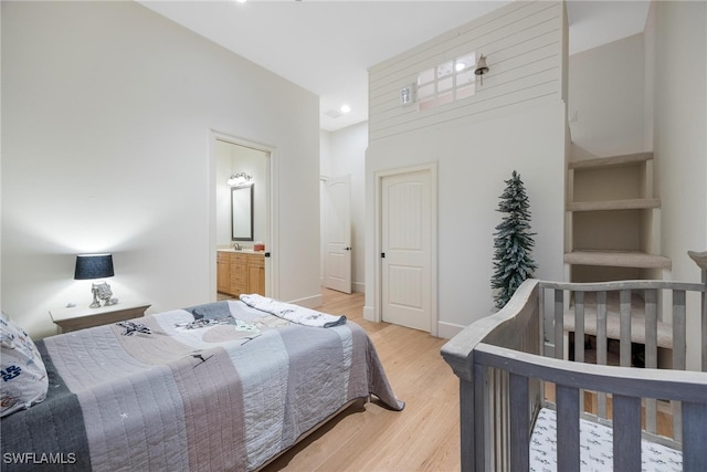
M440 355L446 339L363 319L362 293L323 297L319 310L366 329L405 408L349 408L263 471L458 471L458 379Z

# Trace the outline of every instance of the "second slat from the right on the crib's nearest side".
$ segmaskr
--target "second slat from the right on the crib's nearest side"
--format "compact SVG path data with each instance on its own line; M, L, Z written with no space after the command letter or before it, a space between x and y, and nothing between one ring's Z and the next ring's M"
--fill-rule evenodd
M614 471L641 471L641 399L613 396Z

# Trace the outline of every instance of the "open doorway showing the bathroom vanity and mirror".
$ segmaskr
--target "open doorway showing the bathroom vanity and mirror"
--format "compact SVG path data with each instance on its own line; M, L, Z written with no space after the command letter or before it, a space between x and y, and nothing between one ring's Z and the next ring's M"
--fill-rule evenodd
M212 138L211 297L272 296L272 149L221 134Z

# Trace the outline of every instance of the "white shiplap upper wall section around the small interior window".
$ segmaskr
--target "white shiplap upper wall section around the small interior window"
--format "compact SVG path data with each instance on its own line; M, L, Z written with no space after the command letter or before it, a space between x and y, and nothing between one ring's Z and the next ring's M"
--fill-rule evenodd
M369 70L369 139L394 136L493 111L562 99L564 6L516 1ZM418 109L401 106L400 91L418 74L469 52L490 69L476 94Z

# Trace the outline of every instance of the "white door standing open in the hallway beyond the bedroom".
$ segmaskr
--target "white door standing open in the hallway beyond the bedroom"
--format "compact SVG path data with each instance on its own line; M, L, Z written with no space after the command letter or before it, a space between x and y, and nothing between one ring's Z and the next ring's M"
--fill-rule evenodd
M324 285L351 293L351 177L325 183Z

